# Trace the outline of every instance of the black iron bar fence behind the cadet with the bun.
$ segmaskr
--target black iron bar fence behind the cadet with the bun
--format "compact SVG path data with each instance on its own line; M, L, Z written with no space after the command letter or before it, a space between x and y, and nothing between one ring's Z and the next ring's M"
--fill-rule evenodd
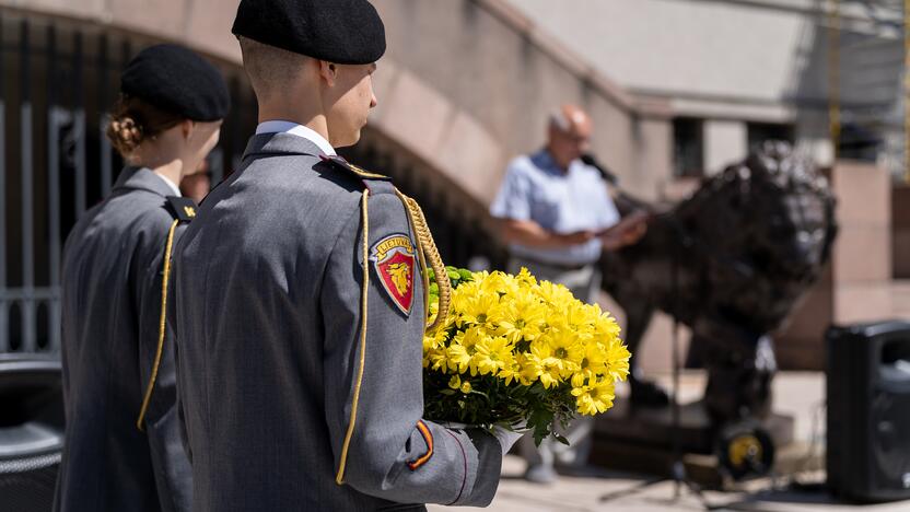
M0 353L60 347L60 254L77 218L121 167L104 137L119 71L153 39L0 9ZM234 109L210 158L233 168L255 126L236 67Z

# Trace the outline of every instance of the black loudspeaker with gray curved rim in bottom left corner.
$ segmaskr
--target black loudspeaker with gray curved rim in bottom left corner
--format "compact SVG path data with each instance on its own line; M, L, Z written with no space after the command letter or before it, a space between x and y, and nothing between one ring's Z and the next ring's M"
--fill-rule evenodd
M0 511L49 512L62 449L59 359L0 354Z

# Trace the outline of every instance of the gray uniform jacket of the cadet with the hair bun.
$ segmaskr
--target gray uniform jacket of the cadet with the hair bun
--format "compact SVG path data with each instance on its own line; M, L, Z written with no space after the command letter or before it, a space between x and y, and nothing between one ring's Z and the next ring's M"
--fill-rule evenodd
M158 348L173 190L127 168L77 222L63 249L66 445L58 511L188 510L192 482L177 428L173 339L165 339L145 431L136 420ZM177 234L184 229L177 229Z

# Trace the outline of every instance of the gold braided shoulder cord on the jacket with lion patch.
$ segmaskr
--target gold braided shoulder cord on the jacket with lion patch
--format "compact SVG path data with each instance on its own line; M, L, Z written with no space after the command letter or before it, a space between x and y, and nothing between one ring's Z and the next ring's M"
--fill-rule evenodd
M420 265L423 268L423 311L427 312L427 314L429 314L429 309L427 307L427 305L430 300L430 277L429 272L427 271L427 260L424 258L429 258L430 265L432 265L433 267L433 272L435 272L436 276L446 276L445 265L443 265L442 263L442 257L440 257L440 252L439 249L436 249L435 242L433 242L433 236L430 233L430 229L427 225L427 219L423 217L423 211L420 210L420 206L418 206L417 201L415 201L413 199L398 191L398 189L395 190L395 194L405 205L405 211L407 211L408 213L408 221L413 228L415 235L417 236L417 253L420 257ZM366 296L370 291L370 216L368 207L369 196L370 190L365 189L361 199L361 212L363 216L363 289L361 290L360 304L360 360L357 373L357 381L354 382L354 396L351 400L351 419L348 422L348 431L345 434L345 442L341 445L341 459L338 464L338 474L335 476L335 482L339 486L345 484L345 468L347 467L348 462L348 450L351 444L351 438L354 433L354 423L357 422L357 406L360 402L360 388L363 384L363 369L366 361ZM448 281L448 279L438 280L438 283L440 288L440 310L436 314L435 321L431 325L427 326L425 331L432 331L438 326L444 325L445 317L448 315L450 300L452 298L452 284Z

